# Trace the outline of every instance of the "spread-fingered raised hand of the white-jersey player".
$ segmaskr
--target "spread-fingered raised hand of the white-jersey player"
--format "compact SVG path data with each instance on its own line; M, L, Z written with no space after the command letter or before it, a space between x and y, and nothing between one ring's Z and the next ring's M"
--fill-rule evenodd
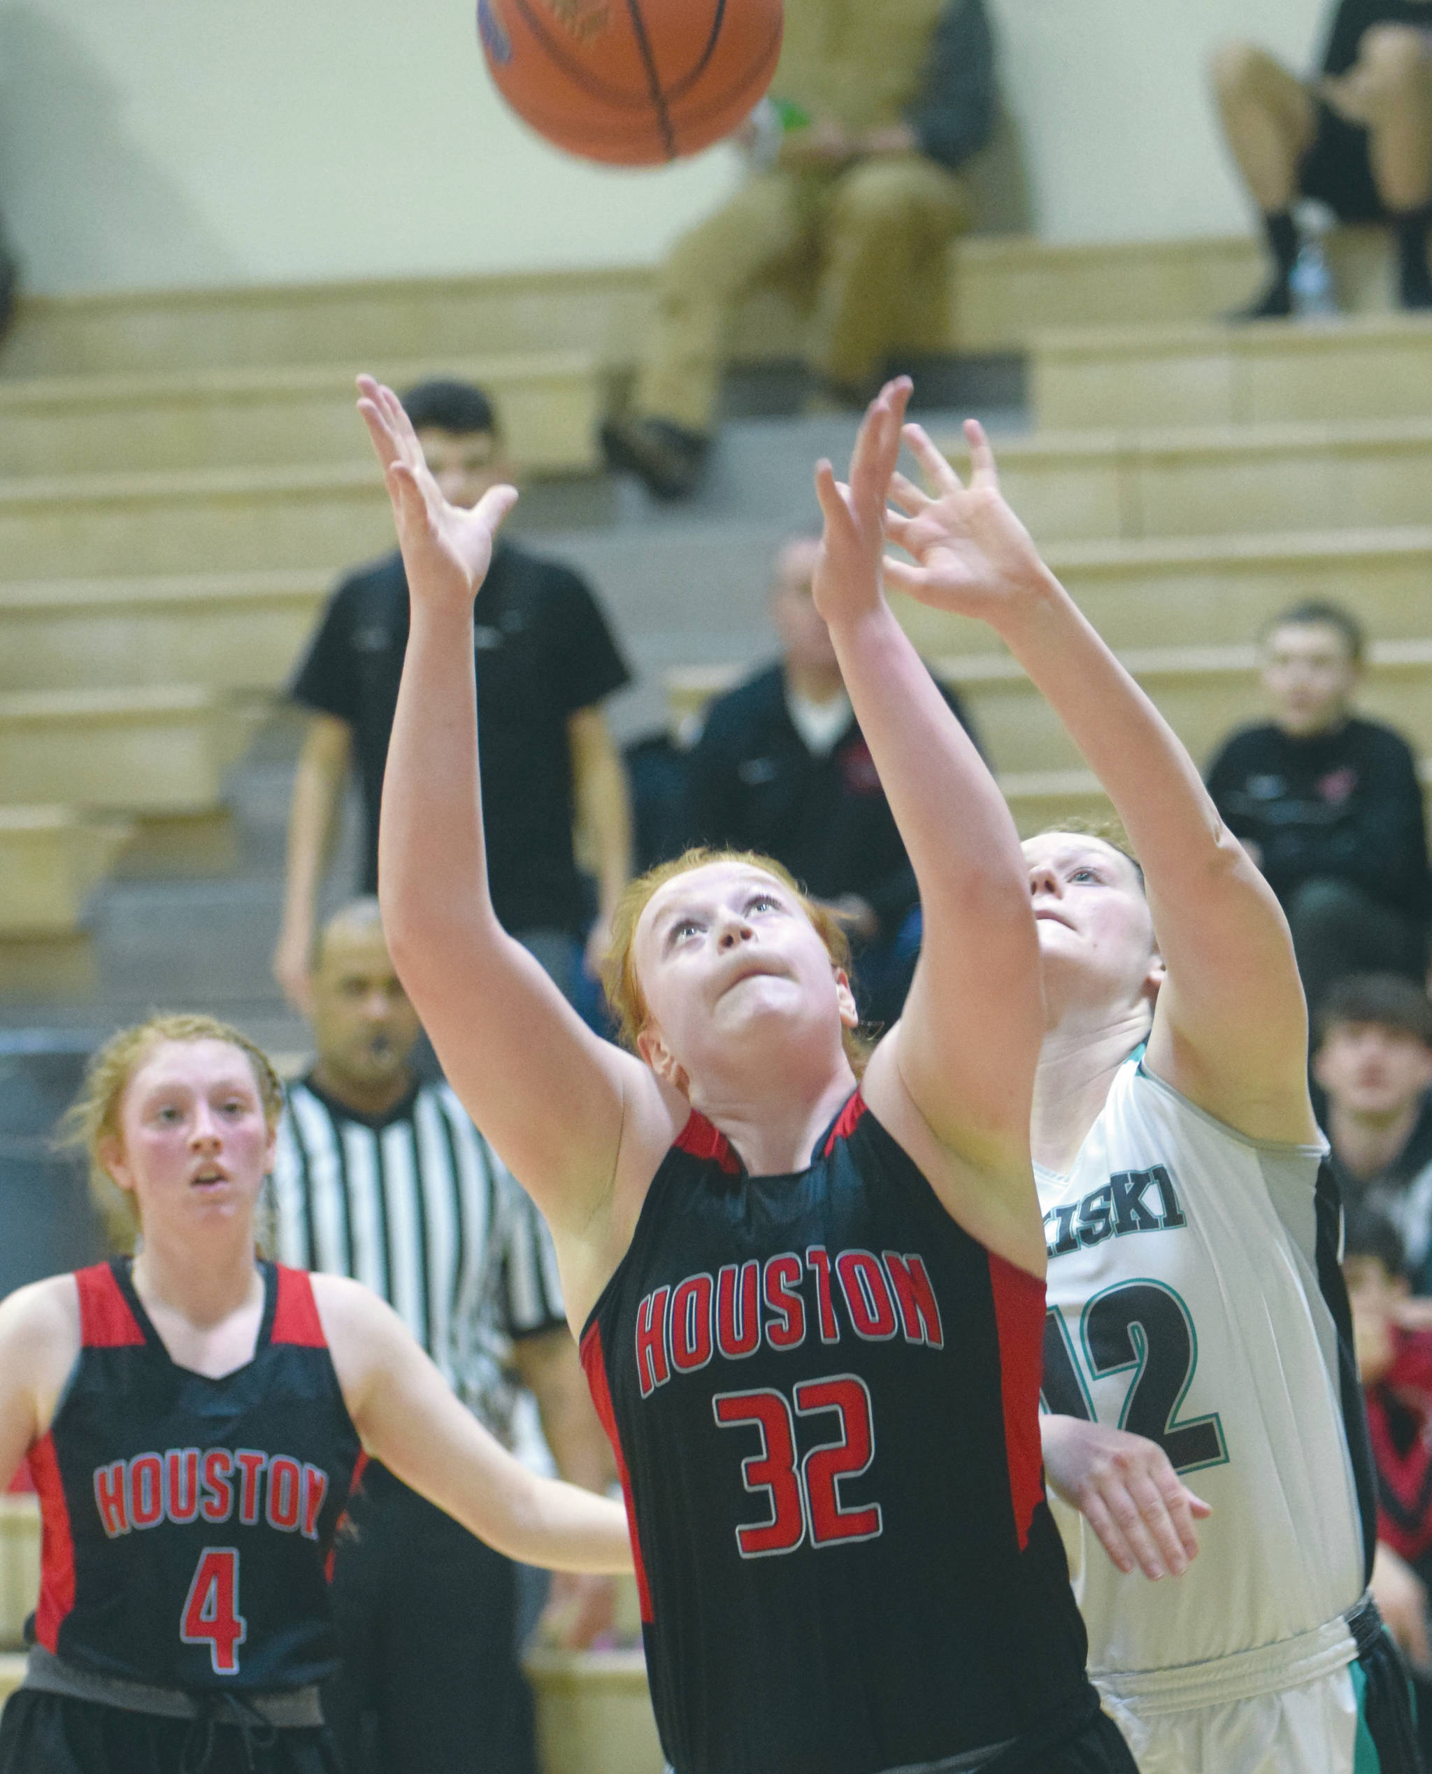
M994 451L985 428L965 420L971 477L965 486L935 449L923 426L905 426L905 442L932 491L903 474L891 475L885 534L910 562L885 561L885 584L937 610L997 621L1022 594L1038 589L1047 568L999 491Z

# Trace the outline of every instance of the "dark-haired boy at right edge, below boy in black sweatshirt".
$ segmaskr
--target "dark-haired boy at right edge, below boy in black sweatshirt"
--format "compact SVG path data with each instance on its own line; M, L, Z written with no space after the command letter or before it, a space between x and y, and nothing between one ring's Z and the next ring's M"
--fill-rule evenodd
M1395 1226L1412 1291L1432 1295L1432 1002L1397 974L1349 974L1317 1034L1313 1079L1343 1201Z

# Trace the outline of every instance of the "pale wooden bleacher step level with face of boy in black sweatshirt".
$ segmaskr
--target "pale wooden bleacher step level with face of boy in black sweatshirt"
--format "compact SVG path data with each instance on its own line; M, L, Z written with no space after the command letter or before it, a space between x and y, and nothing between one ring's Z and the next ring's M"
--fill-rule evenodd
M1200 765L1233 727L1263 718L1253 646L1141 648L1121 658ZM930 669L958 692L997 773L1081 766L1058 717L1008 653L932 656ZM738 674L733 665L669 672L673 718L699 715ZM1432 639L1375 642L1357 703L1432 756Z

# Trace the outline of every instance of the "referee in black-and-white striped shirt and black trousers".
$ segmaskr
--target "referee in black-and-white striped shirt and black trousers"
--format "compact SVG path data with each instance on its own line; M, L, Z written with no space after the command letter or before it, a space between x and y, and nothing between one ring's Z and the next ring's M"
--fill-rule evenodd
M563 1476L605 1488L547 1228L449 1086L410 1068L421 1031L376 899L325 926L312 985L318 1061L289 1086L273 1166L279 1260L380 1293L509 1444L529 1387ZM344 1767L536 1774L516 1566L382 1465L351 1517L332 1586L342 1669L325 1691ZM609 1591L575 1600L600 1616Z

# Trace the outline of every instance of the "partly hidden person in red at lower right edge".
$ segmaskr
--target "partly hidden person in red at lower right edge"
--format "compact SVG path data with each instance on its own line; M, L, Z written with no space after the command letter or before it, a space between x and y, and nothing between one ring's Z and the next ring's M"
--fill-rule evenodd
M1372 1593L1418 1691L1418 1733L1432 1753L1432 1330L1398 1322L1407 1283L1397 1228L1368 1208L1343 1226L1343 1281L1377 1467Z

